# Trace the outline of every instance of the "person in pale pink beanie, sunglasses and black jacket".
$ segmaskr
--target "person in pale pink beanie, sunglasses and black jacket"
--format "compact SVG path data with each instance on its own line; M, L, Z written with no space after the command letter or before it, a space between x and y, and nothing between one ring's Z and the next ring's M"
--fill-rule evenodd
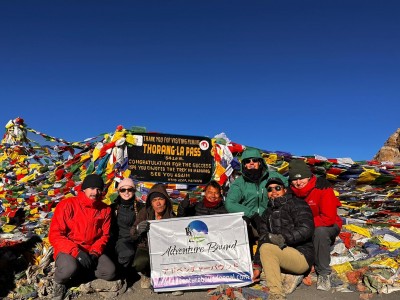
M136 186L131 178L124 178L117 187L118 197L111 205L110 251L118 262L123 275L128 275L136 251L130 229L144 203L136 201Z

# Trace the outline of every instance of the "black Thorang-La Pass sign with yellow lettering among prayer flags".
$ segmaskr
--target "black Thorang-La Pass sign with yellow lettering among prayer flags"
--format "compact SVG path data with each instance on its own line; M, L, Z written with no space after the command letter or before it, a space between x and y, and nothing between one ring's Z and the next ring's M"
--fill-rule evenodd
M128 164L140 181L206 184L211 180L211 140L206 137L140 134L128 148Z

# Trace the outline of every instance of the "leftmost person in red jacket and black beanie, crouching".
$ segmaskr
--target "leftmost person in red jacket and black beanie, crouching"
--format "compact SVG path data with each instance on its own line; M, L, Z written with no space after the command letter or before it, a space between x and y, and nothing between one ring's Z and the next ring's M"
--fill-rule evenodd
M104 280L115 277L115 265L103 252L109 239L111 208L101 201L104 182L91 174L83 180L77 197L61 201L50 223L54 249L53 299L63 299L77 273Z

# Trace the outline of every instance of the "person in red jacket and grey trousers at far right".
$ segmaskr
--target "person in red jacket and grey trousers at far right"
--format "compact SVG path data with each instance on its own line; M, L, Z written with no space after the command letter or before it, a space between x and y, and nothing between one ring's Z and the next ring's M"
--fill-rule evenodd
M332 272L329 266L330 248L342 228L342 219L337 214L337 208L341 206L341 203L335 196L329 181L313 175L302 159L289 162L289 181L292 192L304 199L313 213L317 289L329 291Z

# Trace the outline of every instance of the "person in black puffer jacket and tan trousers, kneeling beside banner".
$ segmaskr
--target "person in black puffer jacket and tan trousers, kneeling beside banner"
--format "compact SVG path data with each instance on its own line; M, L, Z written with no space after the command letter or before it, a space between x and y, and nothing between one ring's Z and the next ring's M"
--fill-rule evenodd
M314 220L307 203L287 193L282 179L270 178L265 187L270 201L259 225L253 280L258 281L262 265L268 299L286 299L303 278L293 274L306 273L314 263Z

